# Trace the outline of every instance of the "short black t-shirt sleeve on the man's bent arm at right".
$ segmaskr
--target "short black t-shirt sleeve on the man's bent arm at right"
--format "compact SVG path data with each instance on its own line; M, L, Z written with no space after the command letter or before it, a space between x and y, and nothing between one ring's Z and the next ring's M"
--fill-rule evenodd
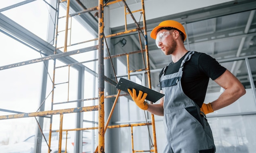
M199 68L212 80L217 79L227 70L216 59L204 53L200 55L198 62Z

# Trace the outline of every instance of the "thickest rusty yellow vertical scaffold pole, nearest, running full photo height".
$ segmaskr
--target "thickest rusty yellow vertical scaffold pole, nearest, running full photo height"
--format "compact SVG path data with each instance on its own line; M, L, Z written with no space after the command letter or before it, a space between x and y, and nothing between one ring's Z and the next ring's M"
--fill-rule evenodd
M99 64L98 64L98 88L99 88L99 147L98 153L104 153L104 22L103 22L103 0L99 0Z

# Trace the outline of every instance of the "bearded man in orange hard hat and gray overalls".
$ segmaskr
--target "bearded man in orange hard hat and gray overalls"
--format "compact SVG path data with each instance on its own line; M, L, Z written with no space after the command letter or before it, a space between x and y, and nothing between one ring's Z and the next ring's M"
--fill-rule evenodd
M172 57L172 62L159 74L160 92L165 96L159 104L144 103L147 93L139 91L137 96L135 89L128 89L130 96L141 109L164 116L167 138L164 153L215 153L205 114L234 103L245 94L245 88L209 55L186 50L186 33L179 22L161 22L150 37L165 55ZM209 78L225 91L215 101L204 104Z

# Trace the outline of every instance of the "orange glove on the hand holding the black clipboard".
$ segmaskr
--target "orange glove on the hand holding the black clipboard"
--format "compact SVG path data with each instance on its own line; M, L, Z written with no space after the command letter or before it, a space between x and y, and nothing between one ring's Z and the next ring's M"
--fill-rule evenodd
M139 90L139 95L137 96L135 89L132 89L132 91L130 89L128 89L128 92L129 92L130 96L132 97L132 100L136 103L136 105L140 109L143 109L143 110L148 109L148 104L145 102L146 96L148 95L147 93L144 93L142 96L143 92Z

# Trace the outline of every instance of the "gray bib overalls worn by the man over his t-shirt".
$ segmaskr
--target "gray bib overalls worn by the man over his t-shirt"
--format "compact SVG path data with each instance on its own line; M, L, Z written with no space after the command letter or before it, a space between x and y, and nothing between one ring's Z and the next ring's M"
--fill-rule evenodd
M160 78L164 96L164 125L167 143L164 153L214 153L211 128L200 115L199 106L182 90L183 66L194 52L186 54L178 72Z

